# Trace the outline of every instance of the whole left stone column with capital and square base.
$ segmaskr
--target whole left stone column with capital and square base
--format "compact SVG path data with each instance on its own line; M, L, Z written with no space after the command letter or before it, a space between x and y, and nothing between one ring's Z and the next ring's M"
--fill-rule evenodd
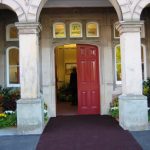
M40 97L38 23L16 23L19 30L21 99L17 102L17 129L20 134L43 130L43 101Z

